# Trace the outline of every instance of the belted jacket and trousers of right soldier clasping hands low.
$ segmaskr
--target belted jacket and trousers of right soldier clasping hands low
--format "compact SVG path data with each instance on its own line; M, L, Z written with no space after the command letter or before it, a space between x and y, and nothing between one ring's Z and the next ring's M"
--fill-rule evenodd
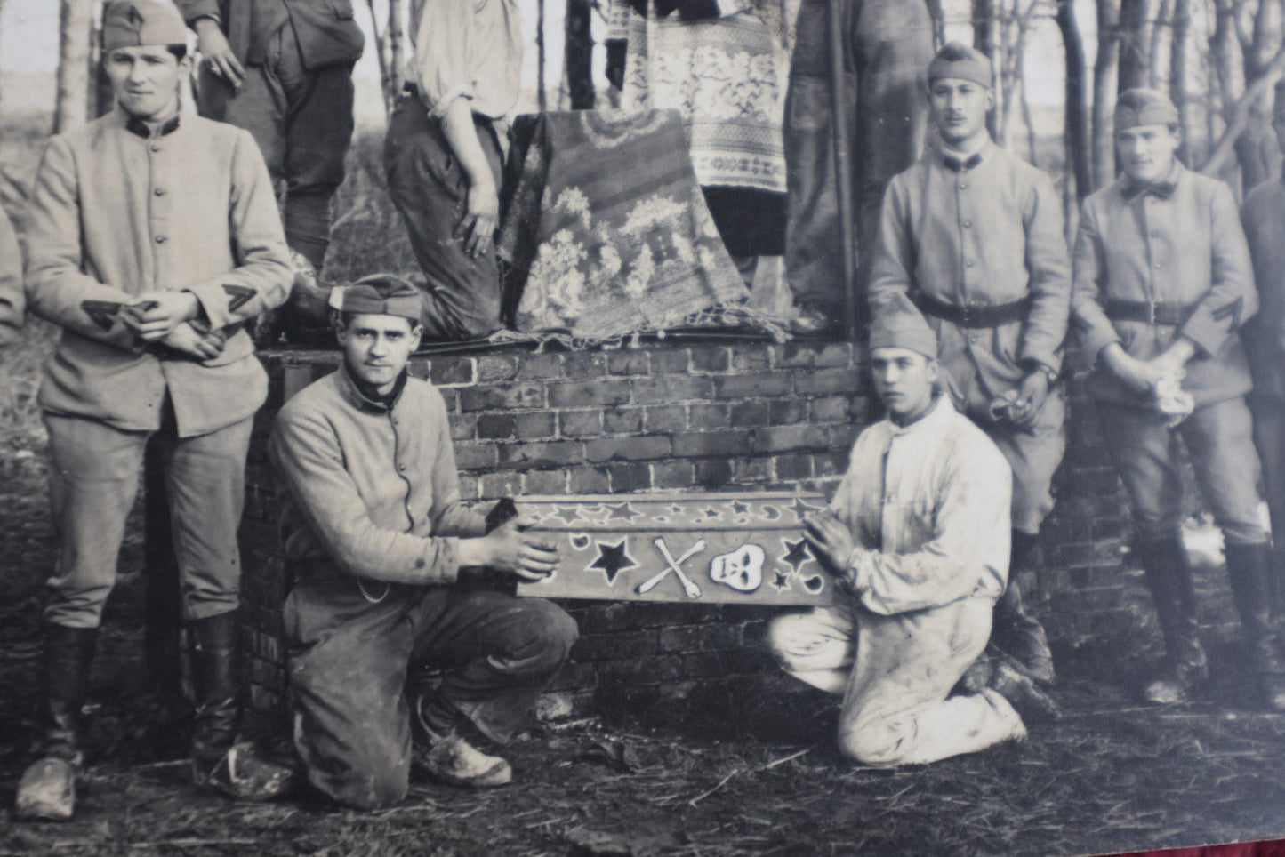
M1262 543L1258 459L1244 398L1252 380L1239 333L1258 310L1258 297L1231 190L1177 162L1154 189L1121 177L1085 200L1074 279L1076 330L1094 365L1088 392L1110 425L1109 448L1139 535L1169 538L1181 527L1181 437L1227 543ZM1119 315L1112 301L1180 305L1181 324L1112 319ZM1137 360L1150 360L1180 335L1196 346L1182 380L1195 412L1171 430L1146 397L1099 357L1119 343Z

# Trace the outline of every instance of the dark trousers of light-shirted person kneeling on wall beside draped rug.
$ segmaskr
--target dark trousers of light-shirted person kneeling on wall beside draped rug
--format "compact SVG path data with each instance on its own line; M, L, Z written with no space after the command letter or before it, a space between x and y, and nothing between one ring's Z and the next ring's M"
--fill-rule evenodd
M496 188L501 186L501 155L493 134L475 126ZM477 258L455 235L464 216L468 179L452 154L441 123L429 118L423 103L402 98L388 123L384 141L388 194L401 212L411 248L424 271L424 339L469 339L500 326L500 269L490 245Z

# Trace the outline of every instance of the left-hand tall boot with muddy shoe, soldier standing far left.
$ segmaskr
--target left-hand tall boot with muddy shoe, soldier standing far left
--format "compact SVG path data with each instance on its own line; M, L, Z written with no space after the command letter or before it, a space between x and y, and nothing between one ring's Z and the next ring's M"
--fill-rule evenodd
M80 711L89 685L98 628L45 623L44 682L36 759L22 775L14 799L18 818L63 821L76 808L76 768L81 764Z

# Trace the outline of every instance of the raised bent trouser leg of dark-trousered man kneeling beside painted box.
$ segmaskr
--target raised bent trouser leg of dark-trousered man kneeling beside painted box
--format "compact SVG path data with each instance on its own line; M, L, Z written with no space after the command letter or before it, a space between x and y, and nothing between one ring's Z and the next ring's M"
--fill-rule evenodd
M442 612L416 628L415 663L445 671L436 693L418 703L423 725L446 735L466 718L504 744L577 635L576 622L551 601L452 590Z

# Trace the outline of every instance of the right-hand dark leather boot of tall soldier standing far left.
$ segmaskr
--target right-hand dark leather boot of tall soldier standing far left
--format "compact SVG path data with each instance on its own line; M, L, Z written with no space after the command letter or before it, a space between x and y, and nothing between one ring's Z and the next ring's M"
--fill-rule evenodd
M236 613L193 619L188 626L197 722L191 731L191 780L204 785L236 741Z

